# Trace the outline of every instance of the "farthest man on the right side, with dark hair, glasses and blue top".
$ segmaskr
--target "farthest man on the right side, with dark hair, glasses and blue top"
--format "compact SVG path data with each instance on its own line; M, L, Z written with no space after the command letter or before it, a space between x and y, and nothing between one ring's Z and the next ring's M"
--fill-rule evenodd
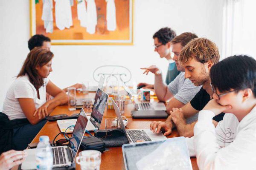
M177 67L175 65L175 61L172 59L171 56L171 41L174 37L176 37L175 31L168 27L161 28L153 35L154 51L159 54L160 58L166 58L169 62L165 81L167 85L169 85L169 83L172 82L172 80L174 80L177 75L180 74L180 71L177 70ZM143 88L154 89L154 85L144 82L139 83L137 86L145 86Z

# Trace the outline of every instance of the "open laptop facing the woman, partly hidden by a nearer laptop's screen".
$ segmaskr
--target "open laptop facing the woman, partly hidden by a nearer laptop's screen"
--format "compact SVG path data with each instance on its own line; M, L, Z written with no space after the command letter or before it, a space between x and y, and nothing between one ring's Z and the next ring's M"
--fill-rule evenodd
M99 129L107 105L107 100L108 94L106 94L101 89L98 89L95 95L95 102L93 105L91 116L87 117L89 121L87 123L86 130L93 131ZM72 133L73 127L70 126L76 124L76 119L57 120L57 124L61 132L65 131L69 127L66 133Z

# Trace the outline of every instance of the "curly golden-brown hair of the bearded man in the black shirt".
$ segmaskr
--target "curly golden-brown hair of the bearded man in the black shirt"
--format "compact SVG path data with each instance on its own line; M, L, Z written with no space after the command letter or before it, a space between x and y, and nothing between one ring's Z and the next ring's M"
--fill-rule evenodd
M217 45L211 40L195 38L182 48L179 62L186 63L193 57L201 63L206 63L211 59L212 63L216 64L220 59L220 54Z

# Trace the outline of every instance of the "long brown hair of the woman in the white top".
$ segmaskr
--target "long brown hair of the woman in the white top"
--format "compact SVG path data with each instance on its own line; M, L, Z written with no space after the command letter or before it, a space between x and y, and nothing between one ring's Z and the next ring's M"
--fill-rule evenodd
M36 89L39 89L44 85L44 80L38 74L38 71L35 68L38 65L40 67L46 65L52 59L52 57L53 53L51 51L41 47L35 47L26 57L26 60L24 61L20 73L17 75L17 77L21 77L27 74L29 76L29 82L31 82Z

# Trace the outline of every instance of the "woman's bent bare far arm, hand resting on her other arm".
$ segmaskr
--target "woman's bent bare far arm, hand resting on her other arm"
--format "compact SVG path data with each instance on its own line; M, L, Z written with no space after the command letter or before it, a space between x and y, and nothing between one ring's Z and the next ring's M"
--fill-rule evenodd
M67 94L58 88L55 84L53 84L50 80L46 85L46 92L51 96L54 96L53 99L45 102L41 107L34 111L33 116L38 114L38 118L41 119L41 115L43 117L48 116L49 113L53 111L58 105L64 105L67 103L68 98Z

